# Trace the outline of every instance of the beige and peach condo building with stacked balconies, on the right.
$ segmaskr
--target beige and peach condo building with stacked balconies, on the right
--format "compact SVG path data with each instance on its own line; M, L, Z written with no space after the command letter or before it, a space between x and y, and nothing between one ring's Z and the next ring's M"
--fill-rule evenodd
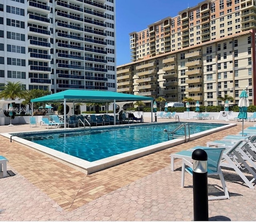
M225 94L238 104L247 88L254 105L255 29L255 0L206 0L186 8L130 33L132 62L117 67L117 90L214 106L224 104L217 97Z

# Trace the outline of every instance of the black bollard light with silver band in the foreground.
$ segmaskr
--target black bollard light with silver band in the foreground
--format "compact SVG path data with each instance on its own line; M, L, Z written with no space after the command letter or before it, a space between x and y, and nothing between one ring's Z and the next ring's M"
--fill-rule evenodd
M207 158L207 153L202 149L192 153L194 221L209 220Z

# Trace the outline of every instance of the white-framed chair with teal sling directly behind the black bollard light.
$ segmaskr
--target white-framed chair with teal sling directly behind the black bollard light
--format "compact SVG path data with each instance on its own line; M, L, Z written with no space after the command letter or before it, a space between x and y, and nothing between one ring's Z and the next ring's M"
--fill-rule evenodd
M208 160L207 160L207 174L208 176L218 175L220 177L220 181L222 184L222 188L224 191L224 195L222 196L213 196L208 197L208 200L222 200L222 199L230 199L228 194L228 188L226 186L224 176L222 174L220 168L220 160L222 158L222 154L225 148L208 148L205 149ZM186 166L189 166L186 168ZM185 171L188 172L190 175L193 175L193 164L188 162L186 159L182 159L182 170L181 170L181 186L184 187L184 178L185 178Z

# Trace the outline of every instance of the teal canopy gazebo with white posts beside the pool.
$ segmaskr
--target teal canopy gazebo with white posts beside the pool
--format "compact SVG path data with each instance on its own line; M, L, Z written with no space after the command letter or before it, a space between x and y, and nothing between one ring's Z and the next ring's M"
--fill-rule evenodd
M129 101L139 101L139 100L151 100L151 122L153 122L153 100L152 97L147 96L136 96L132 94L124 94L120 92L112 91L98 91L98 90L65 90L62 92L57 92L47 96L42 96L30 100L32 102L32 110L34 102L64 102L64 107L66 107L66 102L114 102L114 113L116 113L116 102L129 102ZM33 116L33 112L32 112ZM64 122L66 123L66 109L64 109ZM115 124L115 118L114 118ZM66 128L66 124L64 124Z

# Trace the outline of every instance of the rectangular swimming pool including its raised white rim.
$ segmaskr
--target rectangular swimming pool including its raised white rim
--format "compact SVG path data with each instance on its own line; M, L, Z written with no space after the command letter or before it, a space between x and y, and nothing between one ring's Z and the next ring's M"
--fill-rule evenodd
M190 122L189 124L191 125L190 140L195 140L197 138L206 136L213 132L218 132L220 130L230 128L232 126L236 126L236 124L203 123L204 125L202 125L202 126L206 127L206 126L211 125L210 128L204 128L205 131L198 132L196 130L196 128L198 128L200 123ZM159 128L156 126L159 126ZM1 134L1 135L6 136L8 138L10 138L12 136L12 140L14 140L15 142L23 144L24 146L32 148L33 150L36 150L38 152L41 152L44 155L49 156L52 159L58 160L59 162L62 162L68 166L71 166L72 168L80 170L81 172L84 172L85 174L91 174L91 173L94 173L94 172L97 172L97 171L100 171L100 170L103 170L103 169L106 169L106 168L109 168L112 166L116 166L118 164L128 162L130 160L133 160L133 159L136 159L136 158L139 158L142 156L146 156L148 154L152 154L154 152L164 150L166 148L170 148L172 146L176 146L176 145L186 142L185 138L176 138L174 140L168 141L168 138L166 137L166 132L164 132L164 129L166 128L166 129L170 130L170 126L173 126L173 128L176 128L177 122L131 124L130 127L129 127L129 125L97 126L97 127L91 128L91 133L88 132L87 130L85 130L85 131L81 130L81 128L80 129L71 128L71 129L48 130L48 131L44 131L44 133L42 133L42 131L38 131L38 132L20 132L20 133L12 133L12 134L5 133L5 134ZM151 127L153 127L153 128L151 128ZM192 127L195 127L195 130ZM149 128L152 131L153 137L152 136L150 137L148 134L146 134L147 128ZM124 131L122 133L121 132L117 133L115 131L115 130L124 130L124 129L126 131ZM127 130L130 132L132 132L131 130L134 130L133 133L131 133L132 137L128 137L128 135L126 133ZM36 136L44 137L46 140L51 140L51 144L53 144L53 143L56 143L54 140L54 137L56 137L56 135L58 135L58 137L61 139L60 141L62 141L62 142L59 142L59 144L66 144L66 142L69 140L69 138L75 138L75 140L78 141L78 136L69 136L72 133L83 134L83 136L87 136L87 138L95 138L95 137L98 138L99 135L103 134L105 131L108 133L110 133L110 132L111 133L115 132L115 133L112 134L111 136L110 135L106 136L102 140L97 140L98 142L99 141L102 142L103 145L101 145L101 146L95 146L95 144L92 144L92 143L88 143L86 146L84 146L86 139L84 139L84 138L80 139L81 140L80 144L83 144L83 145L78 145L78 146L72 145L72 148L75 148L72 151L74 154L76 154L74 156L71 156L71 154L69 154L71 152L70 151L71 146L69 146L69 147L66 146L65 152L60 152L59 150L54 150L45 145L35 143L36 140L38 140L38 138L36 138ZM182 130L180 130L180 133L184 134L184 128L182 128ZM120 140L120 144L122 145L121 148L124 146L124 144L128 144L128 147L130 148L130 150L126 149L125 151L124 150L122 152L118 151L118 152L116 152L116 154L114 154L112 151L119 150L119 148L120 148L120 147L116 146L116 144L118 144L118 142L116 140L116 138L118 137L118 134L121 135L121 140ZM30 140L26 140L24 138L21 138L20 136L28 137L28 138L30 138ZM156 138L160 138L164 142L156 140ZM140 147L135 148L134 145L131 145L132 142L137 141L139 139L142 141L142 142L139 142L139 144L141 145L141 148ZM107 155L108 157L102 156L101 159L98 159L98 160L91 159L90 161L83 160L82 158L80 158L80 152L85 147L93 148L92 152L96 152L95 154L99 155L99 153L103 152L101 149L102 147L105 150L107 150L105 147L106 147L107 143L110 143L110 141L112 141L114 143L112 143L112 145L111 144L109 145L108 150L111 150L111 155L108 154ZM151 145L146 144L146 141L149 141L151 143ZM60 147L60 146L57 146L57 147ZM101 150L99 150L99 148ZM64 149L64 146L63 146L63 149Z

